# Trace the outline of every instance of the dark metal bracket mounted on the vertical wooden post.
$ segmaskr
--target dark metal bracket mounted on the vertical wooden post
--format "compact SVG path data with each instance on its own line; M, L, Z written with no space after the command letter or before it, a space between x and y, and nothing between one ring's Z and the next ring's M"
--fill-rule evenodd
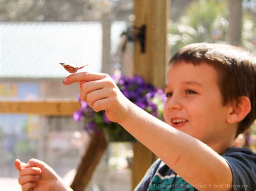
M127 36L128 41L139 41L140 52L146 51L146 25L142 26L130 26L124 32Z

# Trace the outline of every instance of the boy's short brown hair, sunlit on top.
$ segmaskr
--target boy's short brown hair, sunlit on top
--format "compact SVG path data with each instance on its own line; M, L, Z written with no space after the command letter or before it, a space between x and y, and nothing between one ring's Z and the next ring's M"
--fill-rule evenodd
M255 120L255 55L231 45L198 43L179 49L169 63L180 61L193 65L204 62L213 66L219 75L218 86L224 105L239 96L247 96L251 101L251 111L238 124L236 137L251 126Z

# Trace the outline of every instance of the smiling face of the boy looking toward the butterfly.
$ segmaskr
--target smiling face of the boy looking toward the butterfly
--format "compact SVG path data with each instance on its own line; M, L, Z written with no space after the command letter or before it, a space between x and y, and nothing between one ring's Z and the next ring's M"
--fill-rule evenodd
M166 123L206 144L216 143L228 127L230 107L223 105L216 70L206 63L179 62L167 73Z

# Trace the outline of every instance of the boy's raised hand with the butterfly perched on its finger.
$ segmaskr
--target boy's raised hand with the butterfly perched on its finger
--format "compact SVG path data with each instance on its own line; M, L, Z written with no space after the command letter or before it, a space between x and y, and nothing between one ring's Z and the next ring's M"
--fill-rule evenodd
M120 123L129 114L131 102L121 93L107 74L76 73L63 80L64 84L79 82L80 99L95 111L105 110L107 118Z

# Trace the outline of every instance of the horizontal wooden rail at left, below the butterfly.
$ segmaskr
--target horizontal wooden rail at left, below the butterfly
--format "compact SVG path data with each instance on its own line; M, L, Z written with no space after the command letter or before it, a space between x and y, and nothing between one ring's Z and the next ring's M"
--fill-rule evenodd
M0 101L2 114L38 114L66 116L80 108L77 100Z

